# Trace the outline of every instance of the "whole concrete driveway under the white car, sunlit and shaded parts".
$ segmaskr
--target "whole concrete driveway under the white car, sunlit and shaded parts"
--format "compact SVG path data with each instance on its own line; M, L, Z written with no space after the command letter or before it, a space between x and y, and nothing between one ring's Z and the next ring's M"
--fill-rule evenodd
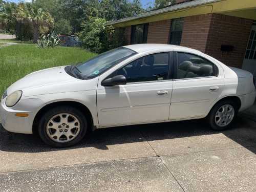
M1 191L256 191L256 122L202 120L98 130L50 148L0 129Z

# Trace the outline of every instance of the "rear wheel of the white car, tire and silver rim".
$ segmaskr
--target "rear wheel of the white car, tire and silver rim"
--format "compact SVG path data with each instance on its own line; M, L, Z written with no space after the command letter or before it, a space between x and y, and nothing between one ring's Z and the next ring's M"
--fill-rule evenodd
M208 122L212 130L223 131L232 126L238 114L238 104L233 100L218 102L208 115Z

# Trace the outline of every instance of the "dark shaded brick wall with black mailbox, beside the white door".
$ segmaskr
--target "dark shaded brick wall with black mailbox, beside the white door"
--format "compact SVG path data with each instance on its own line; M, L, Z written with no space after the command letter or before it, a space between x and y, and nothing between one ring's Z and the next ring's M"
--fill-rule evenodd
M212 14L205 53L228 66L241 68L252 22L249 19ZM231 45L234 49L222 52L221 45Z

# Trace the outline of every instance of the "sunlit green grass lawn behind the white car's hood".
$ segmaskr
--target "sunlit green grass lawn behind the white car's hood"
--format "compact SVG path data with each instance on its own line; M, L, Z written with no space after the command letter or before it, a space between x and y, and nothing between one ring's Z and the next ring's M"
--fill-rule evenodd
M68 47L38 49L36 45L12 45L0 48L0 95L13 82L33 71L75 64L95 55L80 48Z

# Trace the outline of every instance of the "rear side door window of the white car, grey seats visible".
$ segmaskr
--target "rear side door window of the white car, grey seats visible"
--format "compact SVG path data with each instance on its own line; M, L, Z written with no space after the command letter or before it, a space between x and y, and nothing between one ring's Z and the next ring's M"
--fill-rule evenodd
M216 76L214 63L189 53L178 53L177 79Z

